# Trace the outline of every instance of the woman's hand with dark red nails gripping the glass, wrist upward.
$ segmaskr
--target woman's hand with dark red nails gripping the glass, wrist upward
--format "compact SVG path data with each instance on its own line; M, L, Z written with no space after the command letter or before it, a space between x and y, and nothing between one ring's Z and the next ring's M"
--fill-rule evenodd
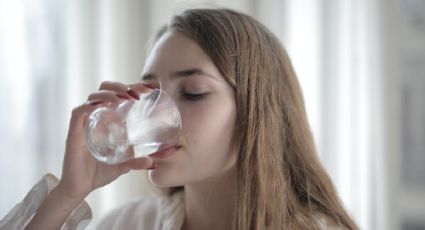
M69 198L84 199L91 191L102 187L132 169L148 169L153 166L148 157L133 159L118 165L97 161L86 147L85 125L88 116L99 106L119 104L123 100L137 100L147 91L139 83L131 87L117 82L103 82L99 91L91 94L88 102L72 112L66 141L62 178L57 186Z

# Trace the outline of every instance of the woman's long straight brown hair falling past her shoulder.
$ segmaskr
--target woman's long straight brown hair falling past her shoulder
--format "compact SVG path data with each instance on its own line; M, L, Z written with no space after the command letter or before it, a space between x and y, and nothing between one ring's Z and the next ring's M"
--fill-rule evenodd
M320 222L357 229L320 164L301 89L279 40L252 17L228 9L186 10L167 30L197 42L234 88L233 229L320 229Z

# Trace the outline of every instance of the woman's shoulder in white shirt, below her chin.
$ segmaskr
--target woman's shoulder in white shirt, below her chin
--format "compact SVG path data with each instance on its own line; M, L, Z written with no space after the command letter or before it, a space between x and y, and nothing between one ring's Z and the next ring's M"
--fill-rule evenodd
M102 218L98 229L162 229L183 221L183 194L149 195L130 199Z

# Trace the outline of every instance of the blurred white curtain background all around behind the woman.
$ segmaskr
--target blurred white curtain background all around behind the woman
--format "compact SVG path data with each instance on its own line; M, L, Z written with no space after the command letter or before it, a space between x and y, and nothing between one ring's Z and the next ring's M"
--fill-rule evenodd
M425 229L423 0L0 0L0 218L45 173L60 177L72 108L104 80L137 81L155 31L200 6L250 14L281 39L361 229ZM88 197L94 222L150 192L143 173L121 177Z

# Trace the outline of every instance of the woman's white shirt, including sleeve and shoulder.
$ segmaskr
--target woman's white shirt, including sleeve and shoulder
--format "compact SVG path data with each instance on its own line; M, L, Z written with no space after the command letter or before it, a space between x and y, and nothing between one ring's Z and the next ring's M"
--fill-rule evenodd
M1 221L0 229L24 229L58 179L46 174ZM184 221L184 195L171 197L140 197L113 209L99 223L97 229L178 230ZM92 219L89 205L83 201L70 214L61 230L87 227Z

